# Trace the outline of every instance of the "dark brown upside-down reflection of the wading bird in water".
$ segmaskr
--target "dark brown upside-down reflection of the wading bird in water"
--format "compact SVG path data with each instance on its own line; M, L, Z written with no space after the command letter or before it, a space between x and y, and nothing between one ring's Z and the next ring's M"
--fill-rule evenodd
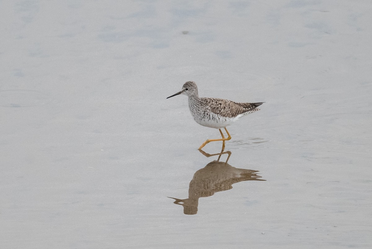
M217 156L218 159L208 163L204 168L196 171L189 185L189 198L172 198L174 204L183 206L184 214L196 214L198 212L198 202L201 197L212 196L215 192L232 189L232 185L243 181L265 181L261 176L257 176L257 170L246 170L244 168L235 168L228 164L231 156L230 151L208 154L201 149L199 151L206 157ZM220 162L221 156L227 154L225 162Z

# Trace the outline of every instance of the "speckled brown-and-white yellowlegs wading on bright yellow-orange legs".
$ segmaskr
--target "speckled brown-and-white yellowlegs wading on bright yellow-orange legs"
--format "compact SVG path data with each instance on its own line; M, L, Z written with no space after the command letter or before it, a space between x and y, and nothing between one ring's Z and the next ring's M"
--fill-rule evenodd
M230 133L227 131L226 126L234 123L236 120L249 113L260 110L257 108L264 102L260 103L237 103L230 100L222 100L220 98L199 98L198 86L195 82L187 81L182 86L182 90L173 94L170 97L185 94L189 97L190 112L196 123L202 126L219 129L222 139L208 139L199 149L203 148L206 144L213 141L227 141L231 139ZM224 128L228 137L225 138L221 131Z

